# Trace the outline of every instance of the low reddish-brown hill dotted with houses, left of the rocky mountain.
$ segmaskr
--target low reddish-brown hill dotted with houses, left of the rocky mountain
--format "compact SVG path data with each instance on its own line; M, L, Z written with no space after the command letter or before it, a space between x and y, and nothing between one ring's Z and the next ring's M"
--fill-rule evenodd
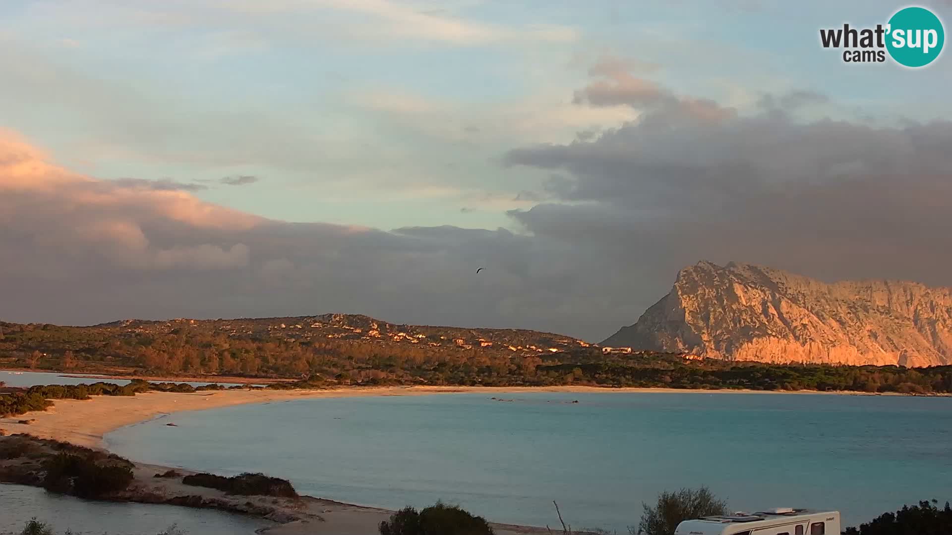
M582 340L532 330L397 325L356 314L169 321L90 327L0 323L0 364L39 369L136 371L169 376L302 377L425 362L488 366L555 354L598 354ZM347 363L346 365L344 363ZM356 369L355 369L356 368Z

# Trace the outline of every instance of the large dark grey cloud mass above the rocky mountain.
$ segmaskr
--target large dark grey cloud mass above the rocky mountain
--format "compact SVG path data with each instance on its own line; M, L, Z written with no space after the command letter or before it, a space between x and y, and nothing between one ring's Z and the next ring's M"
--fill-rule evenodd
M592 88L577 93L582 104L642 114L504 156L509 166L562 173L545 185L553 199L510 212L534 236L639 266L645 287L667 286L701 258L952 286L952 249L938 247L952 235L943 215L952 212L952 123L806 120L800 109L827 104L812 91L767 95L741 111L626 74Z

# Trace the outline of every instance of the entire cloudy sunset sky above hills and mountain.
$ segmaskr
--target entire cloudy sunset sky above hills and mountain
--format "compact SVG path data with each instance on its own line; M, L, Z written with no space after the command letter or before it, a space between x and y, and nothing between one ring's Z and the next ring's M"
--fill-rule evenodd
M0 2L0 319L599 341L700 260L952 286L948 52L819 41L903 6Z

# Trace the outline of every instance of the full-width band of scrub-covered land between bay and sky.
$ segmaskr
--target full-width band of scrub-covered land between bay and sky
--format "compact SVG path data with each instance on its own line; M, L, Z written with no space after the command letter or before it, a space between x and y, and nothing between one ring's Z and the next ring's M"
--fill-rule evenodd
M603 347L520 329L395 325L362 315L0 323L0 366L332 385L667 386L938 393L952 367L765 365Z

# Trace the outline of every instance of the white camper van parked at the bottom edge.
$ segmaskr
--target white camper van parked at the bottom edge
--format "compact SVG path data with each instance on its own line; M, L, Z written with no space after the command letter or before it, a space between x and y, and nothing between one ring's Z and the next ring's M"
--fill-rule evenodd
M685 520L674 535L840 535L840 511L780 507Z

